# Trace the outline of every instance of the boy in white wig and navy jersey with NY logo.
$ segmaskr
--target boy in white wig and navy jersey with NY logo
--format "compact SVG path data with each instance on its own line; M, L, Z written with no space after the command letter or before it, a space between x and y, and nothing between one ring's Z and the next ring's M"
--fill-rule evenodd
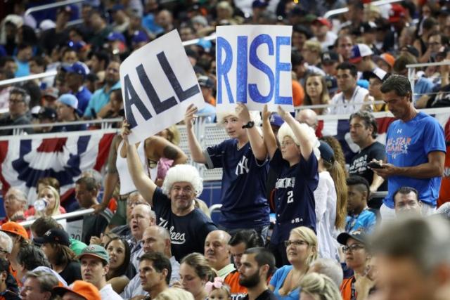
M266 240L269 230L269 204L264 193L267 152L257 128L259 112L250 114L242 103L236 110L217 112L217 123L224 126L230 138L205 150L193 131L195 112L197 107L190 105L184 116L192 159L208 169L223 169L219 227L230 235L242 229L255 229Z

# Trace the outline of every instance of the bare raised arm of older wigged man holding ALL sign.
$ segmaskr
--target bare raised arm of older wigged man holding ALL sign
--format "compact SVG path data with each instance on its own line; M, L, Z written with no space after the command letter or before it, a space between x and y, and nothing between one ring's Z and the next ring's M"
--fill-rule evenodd
M143 171L141 161L139 160L138 151L136 150L136 145L130 145L128 143L128 135L130 132L131 131L127 121L124 121L121 134L124 139L123 147L127 147L128 171L139 193L141 193L142 197L148 202L148 204L153 206L153 193L155 193L156 185Z

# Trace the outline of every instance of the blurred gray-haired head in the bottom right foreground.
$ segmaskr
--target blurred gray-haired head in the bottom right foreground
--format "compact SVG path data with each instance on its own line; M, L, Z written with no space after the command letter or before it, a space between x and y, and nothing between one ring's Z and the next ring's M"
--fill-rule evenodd
M449 299L440 297L450 287L450 224L442 216L390 223L371 245L380 299Z

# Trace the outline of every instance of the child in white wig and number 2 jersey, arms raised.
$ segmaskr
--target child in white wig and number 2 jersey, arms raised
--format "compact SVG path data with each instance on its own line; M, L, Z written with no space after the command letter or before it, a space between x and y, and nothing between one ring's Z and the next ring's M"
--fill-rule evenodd
M278 131L280 148L271 129L270 112L264 107L264 144L270 158L270 167L276 171L275 213L276 223L270 248L276 256L277 266L288 264L285 240L290 230L307 226L316 230L314 190L319 182L319 141L314 129L297 122L289 112L278 107L278 114L285 123Z

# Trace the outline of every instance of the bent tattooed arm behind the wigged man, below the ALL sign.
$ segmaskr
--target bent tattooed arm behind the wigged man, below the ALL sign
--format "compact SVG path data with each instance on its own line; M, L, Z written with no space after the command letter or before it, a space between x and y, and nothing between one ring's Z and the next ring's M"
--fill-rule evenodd
M160 159L161 157L172 159L174 161L172 166L185 164L188 161L188 157L183 150L160 136L147 138L145 148L148 159Z

